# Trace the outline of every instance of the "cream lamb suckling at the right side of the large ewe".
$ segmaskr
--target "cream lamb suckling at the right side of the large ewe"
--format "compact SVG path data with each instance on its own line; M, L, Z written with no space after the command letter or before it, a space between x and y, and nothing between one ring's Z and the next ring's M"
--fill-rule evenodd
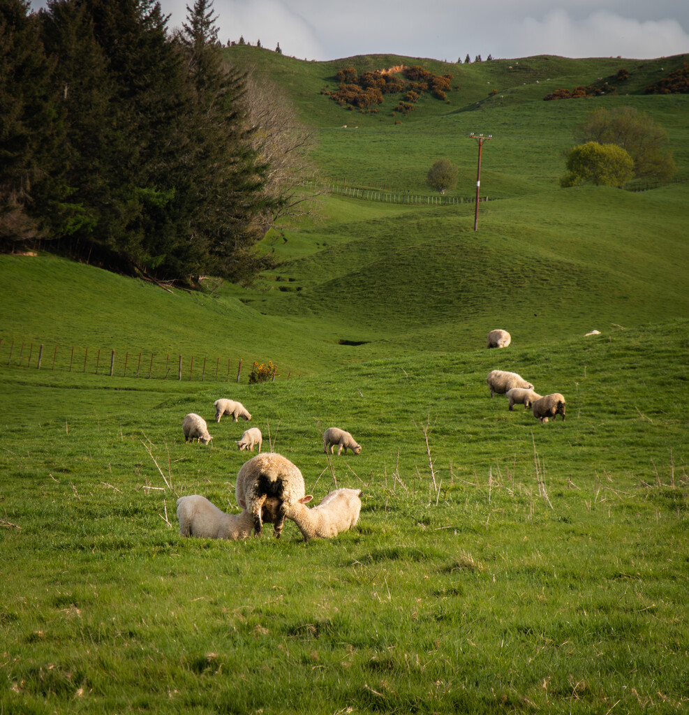
M298 499L293 504L279 507L279 513L292 519L302 532L304 541L309 538L330 538L355 526L361 510L360 489L336 489L325 495L321 503L309 509L305 506L312 495Z

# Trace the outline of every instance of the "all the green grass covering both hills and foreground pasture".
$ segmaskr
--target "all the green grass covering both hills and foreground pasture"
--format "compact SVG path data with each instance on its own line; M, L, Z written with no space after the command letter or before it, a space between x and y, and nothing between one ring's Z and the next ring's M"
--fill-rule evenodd
M643 89L687 56L228 53L297 103L318 176L367 198L314 195L265 238L279 265L249 288L0 256L0 710L682 711L688 100ZM342 66L395 64L460 89L402 118L320 93ZM623 66L628 95L542 101ZM678 181L560 189L574 124L624 104L668 130ZM473 204L409 200L440 157L460 166L452 196L472 196L472 131L493 134L477 232ZM485 349L496 327L506 350ZM247 384L254 360L274 382ZM491 399L494 368L562 392L565 422ZM316 502L362 488L359 526L307 545L293 524L180 538L179 495L237 511L248 425L212 421L221 396ZM192 411L212 448L182 440ZM330 425L361 455L326 458Z

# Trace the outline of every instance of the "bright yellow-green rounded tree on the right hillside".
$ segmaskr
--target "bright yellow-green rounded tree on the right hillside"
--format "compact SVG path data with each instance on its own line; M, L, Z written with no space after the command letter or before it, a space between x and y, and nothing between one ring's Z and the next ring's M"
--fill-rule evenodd
M568 174L560 179L560 186L617 186L620 189L634 175L634 160L617 144L587 142L574 147L567 154Z

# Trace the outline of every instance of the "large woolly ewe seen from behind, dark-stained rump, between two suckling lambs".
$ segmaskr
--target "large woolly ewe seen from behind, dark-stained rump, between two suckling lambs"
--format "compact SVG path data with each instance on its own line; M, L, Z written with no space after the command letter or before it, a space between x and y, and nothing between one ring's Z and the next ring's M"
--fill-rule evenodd
M275 497L291 506L305 493L304 477L297 465L274 452L264 452L245 462L237 473L237 484L234 486L237 503L246 503L257 535L263 530L261 511L268 497ZM284 514L281 514L274 522L277 538L283 526Z

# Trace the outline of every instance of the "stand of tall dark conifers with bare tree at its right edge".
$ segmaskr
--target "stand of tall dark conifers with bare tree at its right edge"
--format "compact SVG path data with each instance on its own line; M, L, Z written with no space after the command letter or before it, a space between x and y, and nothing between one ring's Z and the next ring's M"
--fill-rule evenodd
M270 264L309 137L229 64L212 0L0 4L0 250L39 245L197 285Z

